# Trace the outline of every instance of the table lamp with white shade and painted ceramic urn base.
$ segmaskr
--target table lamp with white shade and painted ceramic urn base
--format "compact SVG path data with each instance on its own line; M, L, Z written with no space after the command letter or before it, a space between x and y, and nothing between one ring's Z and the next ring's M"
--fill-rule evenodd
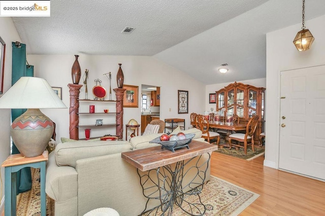
M40 108L67 108L43 78L23 76L0 98L0 109L27 109L12 122L10 130L25 157L43 154L53 134L53 122Z

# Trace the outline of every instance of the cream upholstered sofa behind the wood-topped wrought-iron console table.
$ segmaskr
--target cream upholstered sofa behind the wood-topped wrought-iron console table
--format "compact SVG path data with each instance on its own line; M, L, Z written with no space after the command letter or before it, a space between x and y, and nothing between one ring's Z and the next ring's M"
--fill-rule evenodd
M194 140L205 142L196 128ZM55 201L55 215L83 215L110 207L123 215L139 215L145 207L137 169L121 158L121 152L159 144L149 141L161 134L134 137L127 141L76 141L59 143L49 154L46 166L46 194ZM201 159L206 160L208 155ZM194 162L194 161L193 161ZM194 174L193 174L194 175ZM191 177L183 180L186 185ZM210 166L205 181L210 179ZM158 200L156 200L158 201ZM149 204L150 207L157 202Z

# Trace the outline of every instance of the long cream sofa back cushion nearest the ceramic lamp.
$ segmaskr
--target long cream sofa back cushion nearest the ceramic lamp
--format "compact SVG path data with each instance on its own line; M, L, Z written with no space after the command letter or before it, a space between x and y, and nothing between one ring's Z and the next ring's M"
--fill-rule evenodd
M55 148L58 166L76 167L76 161L84 158L115 154L133 150L127 141L78 141L59 143Z

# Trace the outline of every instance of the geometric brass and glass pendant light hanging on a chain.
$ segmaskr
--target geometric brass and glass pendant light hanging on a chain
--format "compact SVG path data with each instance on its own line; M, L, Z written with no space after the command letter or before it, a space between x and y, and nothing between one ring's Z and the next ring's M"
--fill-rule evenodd
M315 39L309 29L305 28L305 0L303 0L303 27L302 30L297 33L294 39L294 44L298 51L309 50Z

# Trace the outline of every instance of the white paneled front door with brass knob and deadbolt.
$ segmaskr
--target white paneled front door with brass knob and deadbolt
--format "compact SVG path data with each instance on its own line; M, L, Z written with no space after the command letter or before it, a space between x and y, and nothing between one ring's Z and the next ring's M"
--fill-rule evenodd
M279 168L325 180L325 66L281 71Z

